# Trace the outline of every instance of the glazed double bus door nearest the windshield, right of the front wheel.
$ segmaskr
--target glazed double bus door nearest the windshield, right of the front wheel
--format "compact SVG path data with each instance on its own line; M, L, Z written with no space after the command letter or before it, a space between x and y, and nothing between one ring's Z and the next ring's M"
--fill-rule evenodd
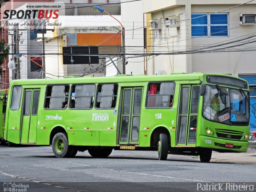
M180 91L177 146L195 146L200 86L183 85Z

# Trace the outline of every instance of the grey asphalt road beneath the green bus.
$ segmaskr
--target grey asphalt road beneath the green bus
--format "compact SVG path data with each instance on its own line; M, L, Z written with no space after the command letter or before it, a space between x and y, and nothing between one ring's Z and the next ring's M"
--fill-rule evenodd
M195 156L170 154L159 161L157 152L151 151L113 151L108 158L78 152L75 158L56 158L50 146L0 146L0 182L28 182L27 192L181 192L196 191L202 182L254 182L256 186L256 151L249 152L250 159L245 153L214 153L210 163L201 163ZM0 192L2 188L0 184Z

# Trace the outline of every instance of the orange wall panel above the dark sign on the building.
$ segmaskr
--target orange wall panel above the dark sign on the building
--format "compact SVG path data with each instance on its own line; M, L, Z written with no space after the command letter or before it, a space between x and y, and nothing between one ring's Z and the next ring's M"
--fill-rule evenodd
M109 39L108 39L109 38ZM106 40L108 39L108 40ZM106 41L105 41L106 40ZM121 34L114 33L78 33L77 45L79 46L95 46L100 43L100 46L104 45L121 45ZM105 41L105 42L104 42Z

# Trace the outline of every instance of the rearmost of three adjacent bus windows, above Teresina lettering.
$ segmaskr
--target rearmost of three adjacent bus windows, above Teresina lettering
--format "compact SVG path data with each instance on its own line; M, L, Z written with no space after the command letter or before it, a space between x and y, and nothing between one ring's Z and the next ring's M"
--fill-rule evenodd
M47 86L44 108L66 109L68 105L68 94L69 86L67 85Z

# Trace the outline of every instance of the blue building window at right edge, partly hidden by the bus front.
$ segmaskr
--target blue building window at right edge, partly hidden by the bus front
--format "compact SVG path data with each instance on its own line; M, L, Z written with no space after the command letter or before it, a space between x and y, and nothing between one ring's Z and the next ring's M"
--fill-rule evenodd
M256 130L256 76L239 76L248 81L250 88L250 130Z

